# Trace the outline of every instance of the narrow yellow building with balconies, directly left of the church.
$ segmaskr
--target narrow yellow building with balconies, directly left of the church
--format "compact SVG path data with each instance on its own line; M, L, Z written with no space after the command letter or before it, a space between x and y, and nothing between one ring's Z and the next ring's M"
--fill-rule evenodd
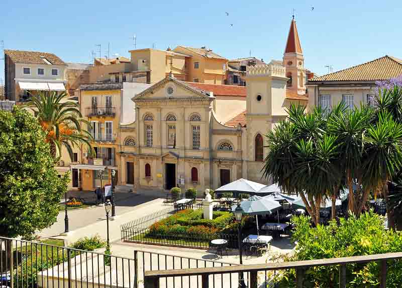
M84 125L92 137L94 155L86 149L80 152L79 163L71 164L72 186L82 190L93 190L111 183L111 170L117 170L116 149L119 139L119 113L123 83L81 84L77 90L82 115L89 125ZM116 174L118 179L119 173Z

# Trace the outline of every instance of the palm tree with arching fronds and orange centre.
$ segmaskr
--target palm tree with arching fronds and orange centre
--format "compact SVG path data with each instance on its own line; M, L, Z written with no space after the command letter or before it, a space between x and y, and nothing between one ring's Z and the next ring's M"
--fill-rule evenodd
M90 142L91 134L81 129L81 123L87 123L82 119L79 105L68 101L66 92L57 94L55 91L38 92L36 96L28 99L25 106L37 111L37 118L45 132L50 144L50 152L55 158L57 152L61 155L62 147L65 147L71 160L73 160L73 148L85 145L92 152Z

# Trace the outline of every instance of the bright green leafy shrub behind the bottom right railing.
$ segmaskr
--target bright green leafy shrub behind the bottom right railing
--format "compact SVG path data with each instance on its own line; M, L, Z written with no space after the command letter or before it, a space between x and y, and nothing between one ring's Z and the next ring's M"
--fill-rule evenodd
M295 224L293 240L297 241L297 253L287 261L321 258L350 257L402 251L402 233L384 229L382 218L372 211L341 218L339 225L331 221L328 226L311 226L307 216L292 217ZM399 287L402 281L402 261L393 261L388 267L386 286ZM363 288L377 286L380 265L377 262L346 265L346 287ZM336 266L309 269L305 283L314 287L338 286L339 270ZM280 284L293 287L294 271L284 271Z

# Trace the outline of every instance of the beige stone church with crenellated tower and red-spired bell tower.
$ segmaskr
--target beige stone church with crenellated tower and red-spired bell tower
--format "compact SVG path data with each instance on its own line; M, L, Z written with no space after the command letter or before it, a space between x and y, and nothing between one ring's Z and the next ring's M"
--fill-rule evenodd
M290 103L308 103L294 19L288 35L282 61L247 67L246 110L230 121L221 121L230 111L215 109L212 91L173 75L133 95L135 121L119 129L119 184L198 191L239 178L270 184L261 178L264 135L286 117Z

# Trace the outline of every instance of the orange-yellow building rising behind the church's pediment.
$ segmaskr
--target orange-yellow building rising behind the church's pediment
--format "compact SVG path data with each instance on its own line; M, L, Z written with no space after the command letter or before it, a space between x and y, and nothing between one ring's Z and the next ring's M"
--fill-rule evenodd
M177 46L174 52L189 55L188 80L207 84L225 84L228 59L206 47Z

